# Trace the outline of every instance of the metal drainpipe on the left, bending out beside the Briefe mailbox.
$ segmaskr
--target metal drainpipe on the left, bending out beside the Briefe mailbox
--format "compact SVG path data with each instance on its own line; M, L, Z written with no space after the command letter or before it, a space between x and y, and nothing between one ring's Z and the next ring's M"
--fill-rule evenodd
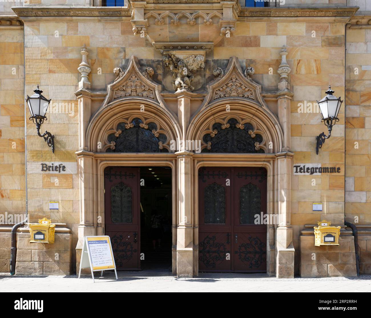
M24 27L23 27L23 48L24 48ZM25 48L24 48L25 50ZM23 52L24 53L24 52ZM23 54L23 57L25 54ZM26 58L23 59L23 65L26 65ZM24 93L26 93L26 72L24 72ZM17 261L17 229L20 228L23 224L26 224L28 221L28 202L27 202L27 111L26 111L26 104L24 104L24 166L25 166L25 188L26 188L26 217L22 222L19 222L15 224L12 227L12 242L11 242L11 248L10 248L10 275L16 274L16 261Z

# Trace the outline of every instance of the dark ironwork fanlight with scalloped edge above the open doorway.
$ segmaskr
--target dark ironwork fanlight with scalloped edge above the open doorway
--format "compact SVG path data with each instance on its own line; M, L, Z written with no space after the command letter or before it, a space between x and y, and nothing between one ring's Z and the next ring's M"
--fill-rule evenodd
M117 131L107 139L110 147L106 152L168 152L163 146L167 136L158 132L156 123L146 124L137 117L129 123L119 123Z

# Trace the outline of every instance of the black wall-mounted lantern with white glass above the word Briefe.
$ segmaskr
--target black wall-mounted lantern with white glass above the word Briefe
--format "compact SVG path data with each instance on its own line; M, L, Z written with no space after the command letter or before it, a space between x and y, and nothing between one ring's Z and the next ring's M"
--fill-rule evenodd
M37 135L44 138L47 145L52 147L52 152L54 153L54 135L46 130L45 133L42 135L40 134L40 126L44 120L47 120L45 114L51 99L47 99L41 95L43 91L39 90L39 85L37 85L37 89L35 89L34 92L35 94L33 94L31 97L27 95L26 98L26 102L31 113L30 120L36 124Z

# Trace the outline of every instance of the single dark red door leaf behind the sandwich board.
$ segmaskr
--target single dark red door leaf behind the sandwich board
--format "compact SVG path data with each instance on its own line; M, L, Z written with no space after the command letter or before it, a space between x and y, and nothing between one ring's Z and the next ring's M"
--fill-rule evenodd
M105 235L119 270L140 270L139 179L139 168L107 167L104 172Z

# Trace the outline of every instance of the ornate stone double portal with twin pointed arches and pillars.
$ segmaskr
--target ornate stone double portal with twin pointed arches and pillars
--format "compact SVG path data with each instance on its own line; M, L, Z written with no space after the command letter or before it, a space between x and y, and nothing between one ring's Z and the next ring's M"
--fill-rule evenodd
M104 233L104 218L102 223L95 220L101 216L99 211L104 211L105 167L169 166L173 169L173 273L179 277L198 275L198 169L207 165L258 165L267 170L268 213L278 213L282 220L279 226L269 225L267 231L267 272L293 277L290 178L287 178L290 169L280 168L290 167L292 160L292 153L283 149L289 145L284 138L289 131L287 114L280 113L278 118L273 115L260 85L251 77L254 69L247 67L243 71L236 57L229 60L225 70L221 67L214 70L217 78L207 85L205 96L191 92L193 74L205 67L204 53L174 50L164 53L162 63L173 72L172 96L161 92L161 85L152 80L154 70L142 68L134 56L125 70L115 68L116 79L108 85L104 102L93 116L87 106L94 93L76 92L79 105L85 105L80 113L81 144L77 152L79 166L84 169L79 170L82 219L76 250L80 251L83 236ZM272 96L277 94L272 92ZM177 111L170 107L171 99L177 100ZM200 99L203 102L195 108L195 101ZM286 88L279 100L282 103L289 99ZM147 131L150 148L126 146L138 129ZM243 135L246 145L215 148L229 135L238 138ZM202 153L184 146L175 151L170 147L173 140L201 140ZM86 185L84 180L91 183ZM283 195L276 198L274 193Z

